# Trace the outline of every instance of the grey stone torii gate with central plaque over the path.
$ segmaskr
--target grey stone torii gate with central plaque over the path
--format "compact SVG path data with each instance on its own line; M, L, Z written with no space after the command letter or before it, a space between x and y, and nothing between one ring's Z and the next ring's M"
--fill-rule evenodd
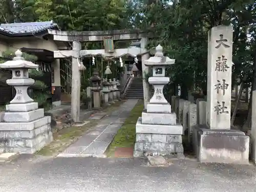
M54 51L54 58L72 57L72 92L71 92L71 116L74 122L79 122L80 113L80 57L122 57L141 55L142 60L142 76L143 76L143 95L144 106L148 101L148 85L145 81L145 73L148 68L144 65L144 60L150 57L146 50L147 38L145 33L127 30L113 30L113 31L59 31L48 30L49 34L53 35L54 40L59 41L72 41L72 50ZM132 47L127 49L114 49L114 40L135 40L141 39L141 48ZM84 41L104 41L104 45L108 44L108 50L81 50L81 42ZM73 75L77 74L77 75Z

